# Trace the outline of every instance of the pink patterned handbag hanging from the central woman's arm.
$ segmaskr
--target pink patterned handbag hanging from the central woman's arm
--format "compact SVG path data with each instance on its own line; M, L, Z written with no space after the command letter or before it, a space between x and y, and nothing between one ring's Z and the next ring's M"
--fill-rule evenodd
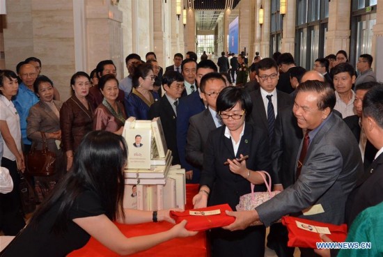
M268 201L269 199L274 197L276 194L280 193L280 191L272 192L272 178L270 177L269 173L267 173L266 171L256 171L256 172L260 173L260 176L262 176L263 181L265 181L267 192L254 192L254 184L251 184L251 193L244 194L243 196L240 197L240 203L238 203L237 206L235 206L237 210L254 210L258 205L265 203L265 201ZM265 174L269 178L268 183L265 178ZM280 220L278 222L280 222ZM263 225L263 223L260 221L256 221L252 225Z

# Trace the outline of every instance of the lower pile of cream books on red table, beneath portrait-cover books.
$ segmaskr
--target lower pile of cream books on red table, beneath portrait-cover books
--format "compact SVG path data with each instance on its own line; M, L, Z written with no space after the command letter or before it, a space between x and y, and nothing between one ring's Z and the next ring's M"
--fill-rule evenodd
M125 170L124 208L136 210L180 208L185 210L185 169L180 169L179 165L169 166L169 169L161 175L164 178L148 178L149 176L159 177L159 173L157 171L141 173ZM139 178L127 178L127 176L139 176Z

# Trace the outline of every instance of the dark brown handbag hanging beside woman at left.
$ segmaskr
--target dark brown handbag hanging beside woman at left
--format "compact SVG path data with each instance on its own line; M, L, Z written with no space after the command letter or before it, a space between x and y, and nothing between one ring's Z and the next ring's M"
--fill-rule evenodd
M42 149L36 150L37 143L33 142L31 150L26 155L26 173L29 176L51 176L55 173L56 153L50 151L45 132L40 132Z

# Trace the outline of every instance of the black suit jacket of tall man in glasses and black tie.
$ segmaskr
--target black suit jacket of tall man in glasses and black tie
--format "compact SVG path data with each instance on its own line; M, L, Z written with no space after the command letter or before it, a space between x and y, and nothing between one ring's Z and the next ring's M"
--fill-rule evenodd
M260 127L265 131L268 131L269 125L267 124L267 116L265 105L263 104L262 95L260 94L260 88L250 93L251 102L253 102L253 110L251 111L251 120L256 127ZM290 95L281 91L276 91L276 108L277 113L292 106L293 99ZM278 116L278 114L276 115Z

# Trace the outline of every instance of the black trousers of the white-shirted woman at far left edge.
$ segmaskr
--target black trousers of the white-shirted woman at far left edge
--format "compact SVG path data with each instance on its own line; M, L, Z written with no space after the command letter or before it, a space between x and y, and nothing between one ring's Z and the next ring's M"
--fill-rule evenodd
M9 170L13 180L13 190L8 194L0 194L0 229L4 235L17 235L25 226L19 194L20 176L16 161L3 157L1 166Z

